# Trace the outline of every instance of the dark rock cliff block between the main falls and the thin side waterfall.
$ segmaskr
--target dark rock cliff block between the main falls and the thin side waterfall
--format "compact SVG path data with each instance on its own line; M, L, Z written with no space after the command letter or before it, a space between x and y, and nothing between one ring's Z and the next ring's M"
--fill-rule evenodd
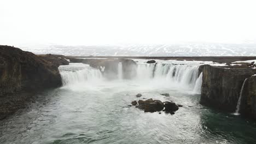
M248 67L216 67L201 65L202 90L200 104L235 112L243 81L256 73Z

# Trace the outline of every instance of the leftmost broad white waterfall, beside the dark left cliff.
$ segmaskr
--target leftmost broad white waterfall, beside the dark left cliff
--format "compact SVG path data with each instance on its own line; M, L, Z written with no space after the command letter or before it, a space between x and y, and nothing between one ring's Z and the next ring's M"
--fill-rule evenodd
M102 79L101 71L98 69L82 69L77 71L61 71L63 86L74 83L92 82Z

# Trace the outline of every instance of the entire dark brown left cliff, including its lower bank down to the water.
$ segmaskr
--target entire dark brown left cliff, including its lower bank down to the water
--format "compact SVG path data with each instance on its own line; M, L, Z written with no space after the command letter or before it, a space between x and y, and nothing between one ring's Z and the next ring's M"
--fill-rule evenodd
M60 56L0 45L0 119L24 107L32 92L61 86L62 64L68 62Z

